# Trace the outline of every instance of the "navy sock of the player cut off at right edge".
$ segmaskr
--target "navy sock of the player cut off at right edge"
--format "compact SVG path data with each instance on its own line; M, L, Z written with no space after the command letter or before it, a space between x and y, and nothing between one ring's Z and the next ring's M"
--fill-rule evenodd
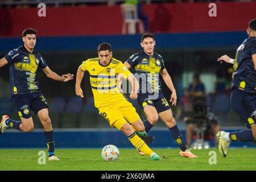
M251 130L242 130L237 132L232 132L229 134L229 138L232 141L239 142L254 142L253 131Z

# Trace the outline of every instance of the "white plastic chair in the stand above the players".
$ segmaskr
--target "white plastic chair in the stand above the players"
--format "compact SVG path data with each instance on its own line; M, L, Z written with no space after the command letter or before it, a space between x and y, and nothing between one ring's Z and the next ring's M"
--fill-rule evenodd
M138 18L138 10L136 5L124 3L121 5L121 12L123 15L122 34L126 34L127 28L127 34L136 34L137 23L139 25L140 34L144 33L143 22Z

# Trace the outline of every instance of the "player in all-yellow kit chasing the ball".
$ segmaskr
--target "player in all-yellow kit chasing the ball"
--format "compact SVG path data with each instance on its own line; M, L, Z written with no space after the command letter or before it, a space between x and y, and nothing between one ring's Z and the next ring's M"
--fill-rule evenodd
M137 99L138 81L121 61L112 57L110 44L101 43L98 46L98 57L83 61L78 68L76 94L82 98L84 94L81 81L85 71L90 74L94 105L99 110L99 114L109 122L110 126L125 133L134 147L150 156L152 160L159 160L160 157L134 131L135 129L142 132L145 128L133 105L119 90L117 75L122 75L133 85L133 91L130 94L133 100Z

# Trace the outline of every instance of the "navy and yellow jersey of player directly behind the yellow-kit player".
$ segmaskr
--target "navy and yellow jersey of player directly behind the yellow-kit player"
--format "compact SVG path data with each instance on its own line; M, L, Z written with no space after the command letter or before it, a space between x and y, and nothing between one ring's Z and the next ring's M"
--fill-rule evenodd
M134 76L139 82L139 93L162 93L159 72L164 69L163 57L154 52L149 56L143 50L135 53L127 60L135 68Z

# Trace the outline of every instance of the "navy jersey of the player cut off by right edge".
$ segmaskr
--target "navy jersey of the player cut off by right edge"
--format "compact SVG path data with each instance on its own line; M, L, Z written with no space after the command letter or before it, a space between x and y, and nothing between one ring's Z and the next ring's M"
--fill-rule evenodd
M234 60L232 88L256 93L256 71L252 55L256 53L256 38L250 36L238 47Z

